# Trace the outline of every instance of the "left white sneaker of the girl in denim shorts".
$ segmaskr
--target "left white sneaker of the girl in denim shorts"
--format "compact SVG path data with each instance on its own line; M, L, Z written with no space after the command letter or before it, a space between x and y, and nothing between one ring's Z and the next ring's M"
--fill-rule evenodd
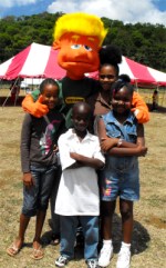
M113 257L113 247L103 246L98 256L98 266L106 267Z

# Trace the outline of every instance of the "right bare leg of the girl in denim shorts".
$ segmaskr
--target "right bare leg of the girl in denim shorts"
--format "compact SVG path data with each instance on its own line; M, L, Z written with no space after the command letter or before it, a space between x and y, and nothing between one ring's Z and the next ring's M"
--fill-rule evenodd
M131 244L133 232L133 201L120 199L123 241Z

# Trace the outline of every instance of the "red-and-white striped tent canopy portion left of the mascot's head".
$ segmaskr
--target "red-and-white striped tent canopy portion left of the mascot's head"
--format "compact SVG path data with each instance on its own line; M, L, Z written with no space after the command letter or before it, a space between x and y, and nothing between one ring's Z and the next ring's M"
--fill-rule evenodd
M20 53L0 64L0 78L13 80L20 78L54 78L65 76L56 63L58 50L52 47L32 43Z

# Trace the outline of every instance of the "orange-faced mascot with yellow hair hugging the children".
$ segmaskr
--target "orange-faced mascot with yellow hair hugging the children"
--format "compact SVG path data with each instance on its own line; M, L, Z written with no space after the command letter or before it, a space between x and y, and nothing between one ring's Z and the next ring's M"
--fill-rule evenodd
M66 70L66 76L60 81L60 96L63 100L61 111L66 118L66 128L70 127L69 118L73 103L85 101L100 90L98 81L85 73L98 70L98 52L106 33L107 30L98 17L83 12L63 14L55 22L53 48L59 50L59 66ZM24 98L22 107L34 117L42 117L48 112L38 90ZM134 93L133 107L139 122L149 120L147 106L137 92Z

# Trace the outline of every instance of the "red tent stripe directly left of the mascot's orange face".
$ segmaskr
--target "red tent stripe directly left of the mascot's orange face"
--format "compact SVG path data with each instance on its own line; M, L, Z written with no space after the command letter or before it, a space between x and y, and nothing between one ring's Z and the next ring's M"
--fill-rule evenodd
M58 64L58 52L59 50L51 48L44 77L61 79L65 76L66 71Z

